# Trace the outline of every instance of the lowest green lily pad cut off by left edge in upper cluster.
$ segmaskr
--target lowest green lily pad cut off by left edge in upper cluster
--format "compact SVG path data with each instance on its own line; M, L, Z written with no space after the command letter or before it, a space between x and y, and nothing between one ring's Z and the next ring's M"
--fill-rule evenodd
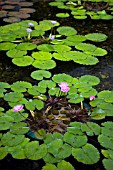
M15 48L17 45L11 42L0 43L0 50L10 50Z

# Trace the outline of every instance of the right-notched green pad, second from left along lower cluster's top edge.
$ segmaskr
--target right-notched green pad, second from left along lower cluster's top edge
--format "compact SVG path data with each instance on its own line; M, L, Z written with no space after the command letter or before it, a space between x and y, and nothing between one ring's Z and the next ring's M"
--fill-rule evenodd
M26 92L27 88L32 88L32 85L25 81L17 81L11 85L11 90L15 92Z

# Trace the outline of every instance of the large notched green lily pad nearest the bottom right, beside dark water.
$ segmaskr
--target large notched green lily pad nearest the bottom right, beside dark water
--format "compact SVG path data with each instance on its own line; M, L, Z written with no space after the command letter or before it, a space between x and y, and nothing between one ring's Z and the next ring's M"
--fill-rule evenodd
M72 155L78 162L84 164L95 164L100 158L98 150L89 143L82 148L72 148Z

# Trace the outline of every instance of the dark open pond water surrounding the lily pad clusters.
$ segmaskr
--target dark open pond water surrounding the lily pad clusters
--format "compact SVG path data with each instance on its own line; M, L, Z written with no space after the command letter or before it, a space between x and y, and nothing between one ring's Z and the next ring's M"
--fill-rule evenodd
M107 41L97 43L108 51L108 54L103 57L99 57L99 63L95 66L84 66L74 62L57 62L57 67L52 70L53 74L67 73L73 77L80 77L82 75L95 75L100 78L101 82L97 89L99 91L104 89L113 90L113 20L110 21L91 21L89 18L86 20L75 20L73 18L59 19L55 17L55 13L62 12L56 7L50 7L47 0L33 0L34 8L36 12L31 15L30 19L35 21L41 21L43 19L57 20L61 25L67 25L74 27L78 34L85 35L87 33L100 32L105 33L108 36ZM1 25L7 24L2 22ZM5 55L5 52L1 52L0 60L0 81L13 83L17 80L24 80L33 82L29 76L30 73L35 70L33 67L20 68L11 63L11 59ZM84 166L83 164L77 164L75 160L72 164L76 167L76 170L103 170L101 163L91 166ZM11 156L7 156L4 160L0 161L0 170L40 170L43 165L43 161L31 161L31 160L16 160Z

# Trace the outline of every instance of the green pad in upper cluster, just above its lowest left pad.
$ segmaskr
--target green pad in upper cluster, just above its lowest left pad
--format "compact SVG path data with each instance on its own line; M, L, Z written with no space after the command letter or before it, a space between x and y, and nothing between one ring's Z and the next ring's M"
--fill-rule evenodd
M14 49L9 50L6 54L8 57L11 57L11 58L20 58L23 55L26 55L27 51L21 51L21 50L14 48Z

